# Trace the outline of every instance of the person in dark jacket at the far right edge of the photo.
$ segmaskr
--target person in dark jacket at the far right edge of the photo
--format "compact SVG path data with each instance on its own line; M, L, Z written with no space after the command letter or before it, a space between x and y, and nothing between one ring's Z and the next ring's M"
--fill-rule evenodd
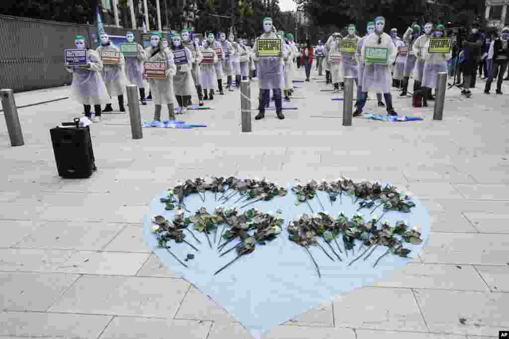
M490 94L493 78L498 75L497 94L502 94L502 81L507 64L509 64L509 27L504 27L500 38L493 41L489 47L488 62L490 63L490 74L484 93Z

